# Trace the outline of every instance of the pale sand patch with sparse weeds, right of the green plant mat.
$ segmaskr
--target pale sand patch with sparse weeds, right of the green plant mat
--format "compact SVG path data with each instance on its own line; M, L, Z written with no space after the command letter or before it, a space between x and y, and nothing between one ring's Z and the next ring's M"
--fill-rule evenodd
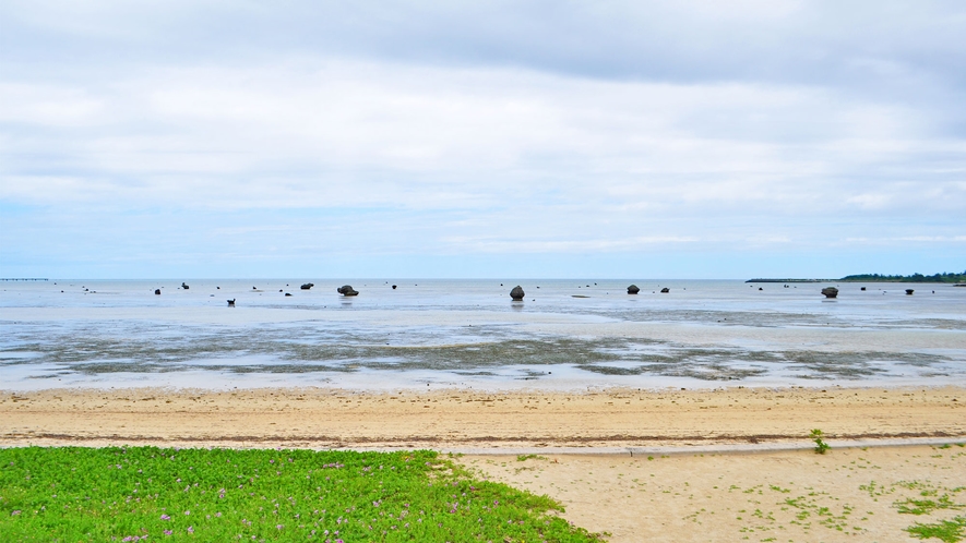
M460 461L494 481L553 497L567 508L564 518L610 533L611 543L908 542L919 541L904 530L916 522L966 515L904 515L898 508L910 498L943 495L966 507L966 447L956 445Z

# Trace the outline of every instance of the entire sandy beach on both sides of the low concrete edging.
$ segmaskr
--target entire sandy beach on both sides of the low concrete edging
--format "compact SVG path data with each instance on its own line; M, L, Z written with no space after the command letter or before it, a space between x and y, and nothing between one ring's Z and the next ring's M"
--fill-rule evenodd
M611 533L612 542L910 541L903 528L964 511L914 517L899 515L895 503L922 492L966 503L966 448L654 452L653 460L592 454L616 447L808 446L811 429L822 429L833 447L846 439L963 443L964 408L963 387L57 389L0 393L0 446L482 449L489 455L461 461L549 494L567 506L565 518ZM561 455L563 447L587 455ZM492 456L522 448L546 452L523 461Z

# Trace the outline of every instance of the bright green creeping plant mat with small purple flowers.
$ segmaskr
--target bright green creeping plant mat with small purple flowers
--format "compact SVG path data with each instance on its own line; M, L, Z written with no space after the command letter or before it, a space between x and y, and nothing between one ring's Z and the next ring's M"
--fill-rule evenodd
M437 452L0 449L3 541L594 542Z

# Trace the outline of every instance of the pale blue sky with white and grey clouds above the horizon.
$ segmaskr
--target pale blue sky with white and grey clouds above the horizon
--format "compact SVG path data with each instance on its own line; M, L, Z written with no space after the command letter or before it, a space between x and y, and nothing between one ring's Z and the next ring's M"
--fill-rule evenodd
M966 3L0 3L0 277L966 269Z

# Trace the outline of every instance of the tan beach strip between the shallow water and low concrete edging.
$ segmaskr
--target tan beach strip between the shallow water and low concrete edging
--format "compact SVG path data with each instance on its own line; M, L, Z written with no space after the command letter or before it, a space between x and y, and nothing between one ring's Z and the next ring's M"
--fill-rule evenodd
M966 388L0 393L0 445L500 449L966 436Z

